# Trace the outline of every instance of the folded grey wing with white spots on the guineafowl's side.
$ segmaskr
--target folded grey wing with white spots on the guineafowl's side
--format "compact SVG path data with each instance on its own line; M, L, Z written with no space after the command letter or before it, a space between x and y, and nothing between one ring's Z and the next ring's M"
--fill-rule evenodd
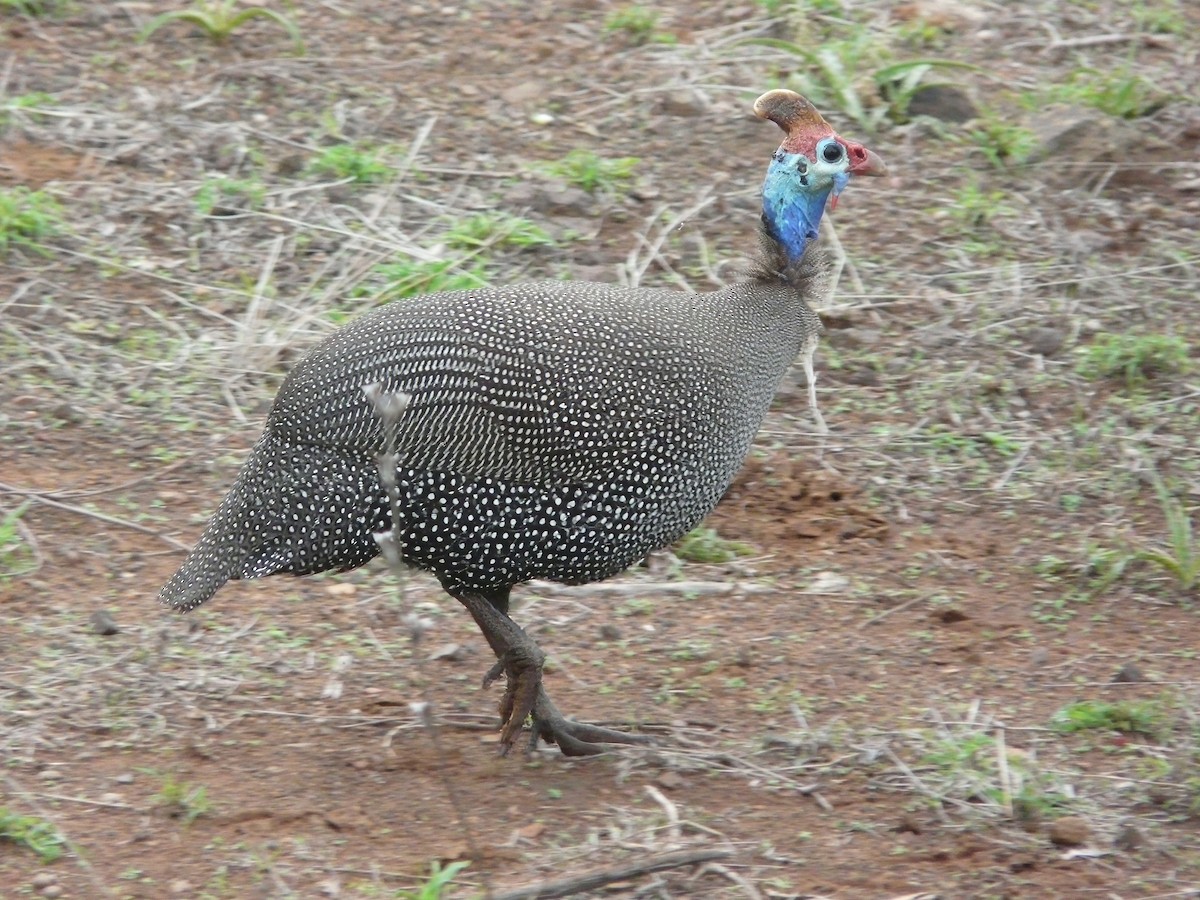
M402 466L554 487L654 456L696 413L654 350L622 354L596 335L554 340L553 323L511 310L479 328L439 324L437 312L380 310L334 335L281 388L270 430L378 452L382 428L362 392L378 384L410 397L397 433Z

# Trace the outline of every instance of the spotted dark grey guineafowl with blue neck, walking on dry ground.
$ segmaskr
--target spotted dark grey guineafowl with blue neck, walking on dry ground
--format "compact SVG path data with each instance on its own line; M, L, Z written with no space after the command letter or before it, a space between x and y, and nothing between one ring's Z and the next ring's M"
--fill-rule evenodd
M644 743L558 710L510 592L607 578L678 540L732 484L798 355L811 391L821 218L853 176L886 167L793 91L754 113L785 138L751 271L707 293L544 281L362 314L288 373L161 602L188 611L230 580L348 571L391 535L496 654L484 685L505 679L502 752L527 724L530 748L566 756Z

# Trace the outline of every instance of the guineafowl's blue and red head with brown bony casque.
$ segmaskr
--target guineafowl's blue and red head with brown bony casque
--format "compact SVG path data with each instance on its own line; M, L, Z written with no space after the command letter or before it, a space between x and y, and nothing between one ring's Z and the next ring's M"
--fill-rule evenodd
M787 259L798 262L817 236L826 204L838 205L851 176L883 175L887 167L862 144L839 136L799 94L768 91L755 101L754 112L787 134L767 168L762 221Z

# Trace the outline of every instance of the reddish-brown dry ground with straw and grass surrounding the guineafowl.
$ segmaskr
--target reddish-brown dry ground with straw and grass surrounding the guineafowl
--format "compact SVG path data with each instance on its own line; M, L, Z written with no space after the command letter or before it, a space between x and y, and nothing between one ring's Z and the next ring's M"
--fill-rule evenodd
M0 2L0 187L62 209L0 269L0 896L402 896L452 860L500 895L680 850L726 856L593 895L1200 894L1198 596L1135 556L1200 500L1200 7L296 0L300 55L46 5ZM883 115L922 58L978 68ZM832 434L797 373L710 522L749 556L516 610L559 706L653 748L497 758L486 648L422 577L156 605L306 346L439 264L707 289L779 140L750 102L805 79L893 170L833 215ZM572 149L640 162L588 193L539 168Z

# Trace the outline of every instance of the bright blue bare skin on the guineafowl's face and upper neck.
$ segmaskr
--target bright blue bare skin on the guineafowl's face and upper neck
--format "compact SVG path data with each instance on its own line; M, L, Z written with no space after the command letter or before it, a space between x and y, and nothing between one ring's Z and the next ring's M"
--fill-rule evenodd
M836 197L848 181L846 172L815 173L803 154L775 151L762 186L762 221L790 263L798 263L809 241L816 240L829 196Z

